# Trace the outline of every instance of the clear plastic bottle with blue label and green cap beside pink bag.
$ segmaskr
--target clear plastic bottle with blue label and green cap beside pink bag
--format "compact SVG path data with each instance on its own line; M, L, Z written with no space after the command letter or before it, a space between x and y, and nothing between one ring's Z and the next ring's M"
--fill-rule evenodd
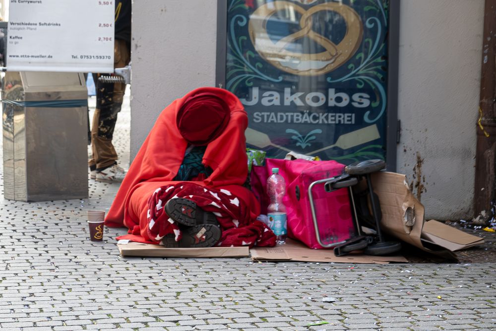
M267 194L270 199L270 204L267 207L270 229L276 235L276 242L284 244L288 236L286 207L282 202L286 194L286 183L284 178L279 175L279 168L272 168L272 175L267 180Z

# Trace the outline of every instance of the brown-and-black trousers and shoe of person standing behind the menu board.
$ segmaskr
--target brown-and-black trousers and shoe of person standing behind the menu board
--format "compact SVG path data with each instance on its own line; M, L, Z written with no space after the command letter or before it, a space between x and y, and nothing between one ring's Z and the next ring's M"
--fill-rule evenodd
M130 52L125 41L116 39L114 67L124 67L129 60ZM91 178L97 181L122 182L124 179L125 172L117 165L118 156L112 144L124 91L124 83L103 83L96 80L97 104L91 128L92 158L88 161L88 165Z

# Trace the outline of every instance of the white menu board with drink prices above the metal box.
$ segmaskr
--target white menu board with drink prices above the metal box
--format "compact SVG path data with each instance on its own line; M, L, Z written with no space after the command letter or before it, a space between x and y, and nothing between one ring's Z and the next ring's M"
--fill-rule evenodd
M10 0L8 71L114 71L114 0Z

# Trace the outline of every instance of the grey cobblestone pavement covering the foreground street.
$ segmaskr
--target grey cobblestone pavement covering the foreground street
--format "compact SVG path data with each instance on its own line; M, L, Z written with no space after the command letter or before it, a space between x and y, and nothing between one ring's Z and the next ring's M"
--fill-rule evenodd
M126 167L127 107L116 132ZM493 264L123 258L113 238L124 229L95 243L85 224L118 185L89 185L83 200L15 202L2 191L1 330L496 330Z

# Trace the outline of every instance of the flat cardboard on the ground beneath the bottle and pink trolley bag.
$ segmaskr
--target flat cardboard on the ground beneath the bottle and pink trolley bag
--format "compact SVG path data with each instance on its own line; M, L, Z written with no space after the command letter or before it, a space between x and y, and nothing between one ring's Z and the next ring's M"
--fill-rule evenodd
M250 249L253 261L301 261L301 262L341 262L341 263L376 263L408 262L401 256L368 256L354 253L336 257L332 249L312 250L300 242L288 239L285 245L276 247L254 247Z

